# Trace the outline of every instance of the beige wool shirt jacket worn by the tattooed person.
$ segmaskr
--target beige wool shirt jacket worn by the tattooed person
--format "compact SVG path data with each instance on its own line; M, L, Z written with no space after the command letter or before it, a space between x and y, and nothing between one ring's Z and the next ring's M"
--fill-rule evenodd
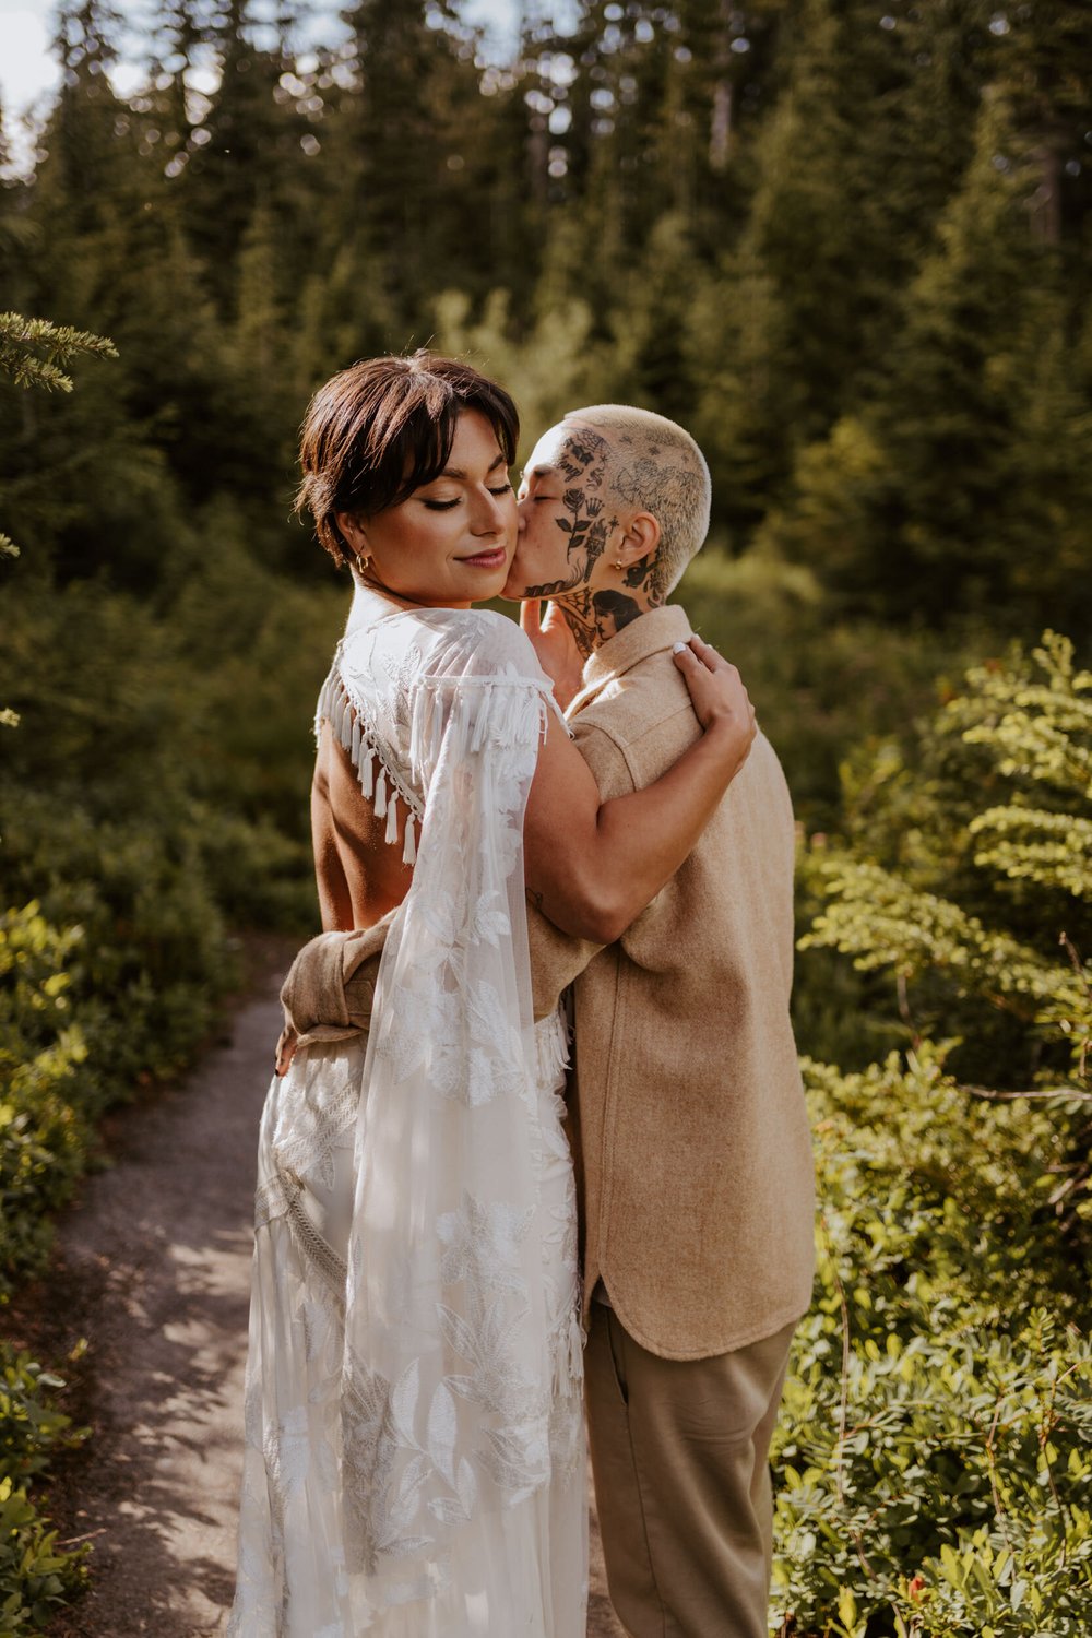
M653 609L584 667L568 711L604 799L657 780L697 737ZM789 1024L794 829L760 734L693 853L617 943L529 909L535 1017L573 984L571 1138L584 1297L670 1360L771 1337L809 1307L812 1148ZM367 1025L385 927L323 934L282 991L303 1040Z

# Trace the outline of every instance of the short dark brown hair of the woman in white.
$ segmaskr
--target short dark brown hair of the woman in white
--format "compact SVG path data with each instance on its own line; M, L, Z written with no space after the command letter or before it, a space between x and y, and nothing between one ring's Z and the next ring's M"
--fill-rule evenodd
M424 347L404 359L362 359L319 387L300 434L296 513L311 513L337 563L352 562L337 513L373 518L439 478L463 410L486 418L511 467L519 442L516 405L458 359Z

